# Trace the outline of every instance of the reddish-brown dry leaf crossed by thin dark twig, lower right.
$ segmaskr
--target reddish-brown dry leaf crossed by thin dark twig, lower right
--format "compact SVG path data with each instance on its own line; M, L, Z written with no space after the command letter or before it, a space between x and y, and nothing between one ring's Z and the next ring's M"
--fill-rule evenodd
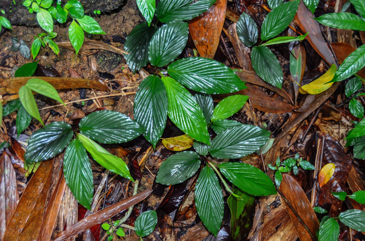
M288 174L283 174L283 181L280 184L280 191L285 198L289 201L289 204L295 209L299 217L307 225L308 229L314 234L319 229L319 222L314 213L314 210L309 202L303 189L297 183L297 181ZM288 204L281 198L281 202L284 203L300 240L312 240L308 231L300 223L298 217L293 213Z

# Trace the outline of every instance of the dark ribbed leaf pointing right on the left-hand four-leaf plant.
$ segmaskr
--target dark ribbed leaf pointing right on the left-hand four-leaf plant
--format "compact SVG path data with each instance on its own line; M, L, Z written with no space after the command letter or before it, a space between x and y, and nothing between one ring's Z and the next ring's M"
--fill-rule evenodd
M80 132L100 143L122 143L138 137L142 128L118 111L95 111L80 121Z

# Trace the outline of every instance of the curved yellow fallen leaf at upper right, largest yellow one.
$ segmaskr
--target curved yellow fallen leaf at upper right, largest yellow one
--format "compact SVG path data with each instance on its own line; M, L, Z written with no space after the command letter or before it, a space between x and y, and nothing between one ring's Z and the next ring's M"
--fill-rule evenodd
M302 94L311 94L311 95L317 95L319 93L322 93L323 91L329 89L332 83L328 83L333 79L335 76L337 68L336 65L332 65L330 69L327 70L326 73L324 73L322 76L320 76L318 79L313 80L311 83L303 85L299 88L299 92ZM328 84L326 84L328 83Z

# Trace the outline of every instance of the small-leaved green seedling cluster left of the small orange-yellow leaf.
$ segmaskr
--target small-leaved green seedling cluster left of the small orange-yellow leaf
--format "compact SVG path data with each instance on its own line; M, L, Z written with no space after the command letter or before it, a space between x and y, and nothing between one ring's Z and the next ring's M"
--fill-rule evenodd
M276 159L276 167L273 167L271 164L268 167L271 170L276 170L275 172L275 184L277 187L280 187L281 181L283 180L283 172L291 172L293 170L294 175L297 175L299 172L298 167L300 166L304 170L314 170L315 167L309 161L303 161L303 159L299 158L299 153L295 154L294 158L288 158L282 162L280 162L280 157Z

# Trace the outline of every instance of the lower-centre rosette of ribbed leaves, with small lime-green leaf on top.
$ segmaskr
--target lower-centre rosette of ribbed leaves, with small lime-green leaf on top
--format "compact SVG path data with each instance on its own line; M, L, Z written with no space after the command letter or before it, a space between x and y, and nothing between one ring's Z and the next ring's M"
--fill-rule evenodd
M195 152L183 151L169 156L162 162L156 182L164 185L181 183L195 175L203 164L205 167L201 169L195 187L195 205L201 221L210 232L217 235L223 219L223 194L219 179L226 190L232 193L222 175L250 195L272 195L276 194L276 190L271 179L256 167L242 162L220 162L218 165L206 163L208 159L204 156L218 158L218 161L247 156L268 141L270 132L226 119L242 108L247 96L227 97L215 108L209 94L197 93L194 97L203 110L206 123L209 123L208 128L212 128L216 136L210 145L195 141Z

